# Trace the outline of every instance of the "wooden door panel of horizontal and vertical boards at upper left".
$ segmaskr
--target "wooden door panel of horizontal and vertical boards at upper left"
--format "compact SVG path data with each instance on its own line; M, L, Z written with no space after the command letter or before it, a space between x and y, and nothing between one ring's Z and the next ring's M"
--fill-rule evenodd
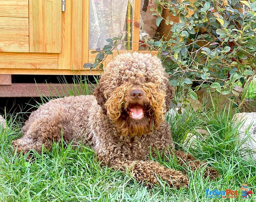
M0 52L61 53L61 0L0 0Z

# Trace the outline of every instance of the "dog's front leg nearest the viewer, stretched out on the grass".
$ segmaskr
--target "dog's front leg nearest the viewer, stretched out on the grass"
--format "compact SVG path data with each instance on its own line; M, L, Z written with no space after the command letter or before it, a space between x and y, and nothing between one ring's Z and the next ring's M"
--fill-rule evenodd
M171 168L165 168L158 162L116 160L112 166L124 172L131 172L137 182L145 182L147 185L158 184L158 177L166 181L170 187L177 189L187 187L189 183L187 175Z

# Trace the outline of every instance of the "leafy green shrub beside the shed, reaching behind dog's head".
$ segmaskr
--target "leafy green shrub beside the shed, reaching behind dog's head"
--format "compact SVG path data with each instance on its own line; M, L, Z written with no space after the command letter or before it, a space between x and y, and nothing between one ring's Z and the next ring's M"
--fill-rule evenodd
M241 104L255 75L256 52L256 1L238 0L156 0L153 15L157 25L165 21L171 26L171 39L148 40L146 45L159 51L173 86L189 87L188 95L197 99L195 91L211 87L221 94L239 97ZM162 10L179 15L180 23L170 17L163 18ZM191 16L189 11L194 11ZM98 52L94 64L86 67L103 67L102 60L112 54L119 38L107 39ZM124 41L123 41L124 42ZM125 41L126 42L126 41ZM190 88L192 83L195 88Z

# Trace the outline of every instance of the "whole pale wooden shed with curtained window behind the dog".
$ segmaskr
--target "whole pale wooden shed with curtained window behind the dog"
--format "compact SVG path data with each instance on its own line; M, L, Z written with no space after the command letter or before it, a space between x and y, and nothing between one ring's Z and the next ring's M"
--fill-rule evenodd
M11 75L15 74L99 74L98 70L84 70L83 64L94 62L96 54L91 51L97 47L100 37L105 40L120 32L126 35L126 40L140 41L141 23L148 23L141 16L143 12L145 18L151 16L149 4L152 0L0 0L0 85L11 85ZM104 26L108 27L109 12L110 24L118 25L114 35L103 33L107 29ZM156 28L147 26L151 31ZM95 30L100 35L97 39ZM93 40L97 43L90 45ZM139 44L114 51L113 56L127 50L138 51ZM14 95L10 92L10 96Z

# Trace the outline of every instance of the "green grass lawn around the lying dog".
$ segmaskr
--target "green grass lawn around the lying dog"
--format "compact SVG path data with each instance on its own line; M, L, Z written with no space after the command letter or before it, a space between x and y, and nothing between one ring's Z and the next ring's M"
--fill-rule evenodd
M9 129L0 129L0 201L241 201L241 196L209 199L205 189L231 189L241 193L239 185L244 182L251 183L249 188L254 194L250 198L256 200L256 163L241 156L237 127L232 126L230 111L195 112L188 107L182 115L166 117L176 149L209 162L221 175L209 180L202 178L203 169L191 172L185 168L190 183L188 189L180 190L169 188L164 182L148 188L137 183L129 173L100 167L88 145L60 142L54 143L51 152L30 152L30 158L16 154L11 141L21 135L24 122L21 115L6 115ZM198 128L207 130L209 137L187 140L188 133ZM149 158L169 168L184 169L171 156L168 161Z

